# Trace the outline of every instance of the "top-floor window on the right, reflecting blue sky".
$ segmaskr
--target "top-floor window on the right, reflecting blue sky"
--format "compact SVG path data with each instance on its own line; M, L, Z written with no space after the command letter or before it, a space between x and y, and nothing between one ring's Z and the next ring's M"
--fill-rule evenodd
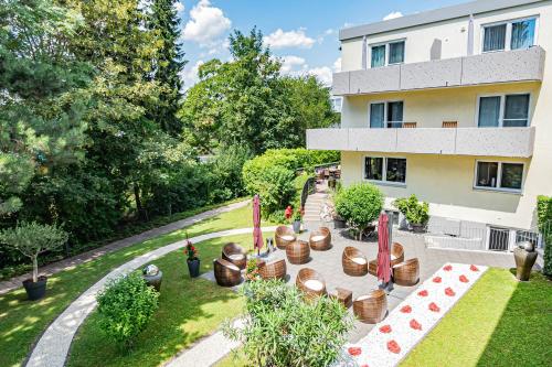
M529 48L534 44L537 19L485 25L482 52Z

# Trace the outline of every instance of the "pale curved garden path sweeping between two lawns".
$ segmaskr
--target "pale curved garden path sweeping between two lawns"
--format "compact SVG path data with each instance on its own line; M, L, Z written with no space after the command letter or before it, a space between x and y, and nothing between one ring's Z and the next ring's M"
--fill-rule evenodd
M263 230L273 231L276 227L263 227ZM244 235L253 233L253 228L240 228L215 231L206 235L190 238L194 244L209 239ZM28 367L63 367L73 342L73 337L84 320L96 307L96 294L105 287L110 279L126 274L140 266L153 261L169 252L184 247L185 240L177 241L164 247L160 247L150 252L144 253L109 272L102 280L86 290L78 299L73 301L65 311L55 319L46 328L36 343L26 363Z

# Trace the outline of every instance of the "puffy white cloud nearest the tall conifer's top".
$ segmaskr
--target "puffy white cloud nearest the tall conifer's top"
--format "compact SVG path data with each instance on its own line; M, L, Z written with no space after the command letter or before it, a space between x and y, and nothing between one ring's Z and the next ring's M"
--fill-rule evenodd
M185 23L182 36L187 41L209 46L214 40L232 26L230 19L221 9L211 7L209 0L200 0L190 10L190 20Z

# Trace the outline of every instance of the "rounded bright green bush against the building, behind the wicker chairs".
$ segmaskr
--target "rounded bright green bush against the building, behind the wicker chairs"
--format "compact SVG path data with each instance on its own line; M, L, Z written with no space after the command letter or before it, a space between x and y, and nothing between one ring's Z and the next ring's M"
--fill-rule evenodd
M359 240L383 207L383 194L370 183L353 184L336 195L336 211L358 233Z

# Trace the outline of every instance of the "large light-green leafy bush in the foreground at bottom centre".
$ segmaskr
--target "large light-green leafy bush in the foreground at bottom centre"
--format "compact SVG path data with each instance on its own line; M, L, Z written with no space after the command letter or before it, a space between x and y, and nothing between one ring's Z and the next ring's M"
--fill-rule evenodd
M339 359L352 317L336 300L306 302L295 287L253 281L243 288L245 325L226 323L224 334L243 344L255 366L330 366Z

